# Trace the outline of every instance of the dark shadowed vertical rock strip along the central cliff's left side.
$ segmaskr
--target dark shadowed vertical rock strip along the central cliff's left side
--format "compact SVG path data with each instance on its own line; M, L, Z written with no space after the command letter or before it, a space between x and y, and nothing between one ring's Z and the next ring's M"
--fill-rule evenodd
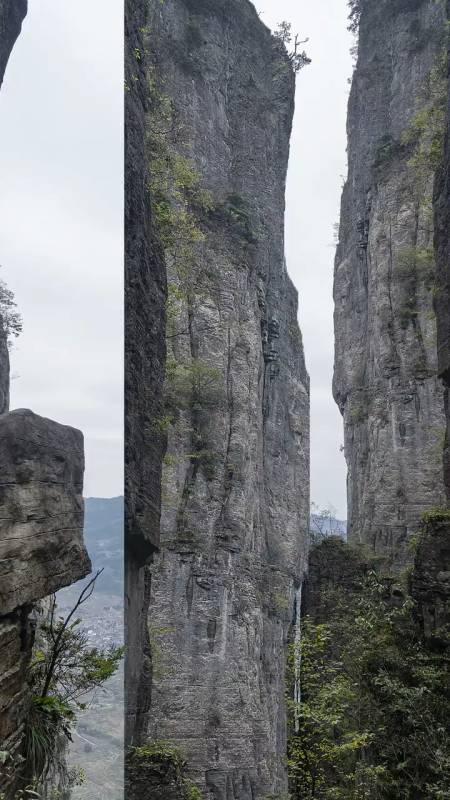
M166 278L151 213L146 153L149 112L143 31L147 0L125 3L125 552L126 740L136 742L148 711L149 574L159 544ZM139 56L139 57L138 57Z

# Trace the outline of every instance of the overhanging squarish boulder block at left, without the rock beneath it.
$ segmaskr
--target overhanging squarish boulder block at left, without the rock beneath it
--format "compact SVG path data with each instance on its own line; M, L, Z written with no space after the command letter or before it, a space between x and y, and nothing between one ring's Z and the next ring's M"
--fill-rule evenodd
M18 410L0 416L0 609L83 578L83 436Z

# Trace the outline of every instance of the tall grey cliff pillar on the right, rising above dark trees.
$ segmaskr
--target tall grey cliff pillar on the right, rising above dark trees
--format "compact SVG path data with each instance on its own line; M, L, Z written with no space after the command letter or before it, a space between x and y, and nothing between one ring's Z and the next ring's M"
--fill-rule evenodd
M432 209L445 10L432 0L360 5L335 267L334 394L345 425L349 538L399 566L422 512L445 499Z

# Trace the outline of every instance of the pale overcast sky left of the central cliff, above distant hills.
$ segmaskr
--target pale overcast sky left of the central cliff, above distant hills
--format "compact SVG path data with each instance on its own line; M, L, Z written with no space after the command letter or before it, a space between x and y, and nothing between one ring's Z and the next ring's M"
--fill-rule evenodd
M24 332L11 406L81 428L123 492L123 0L29 0L0 92L0 277Z

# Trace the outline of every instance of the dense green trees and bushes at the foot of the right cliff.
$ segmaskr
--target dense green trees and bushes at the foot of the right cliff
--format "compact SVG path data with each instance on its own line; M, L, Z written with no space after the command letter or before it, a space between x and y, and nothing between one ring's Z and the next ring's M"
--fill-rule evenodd
M326 623L302 625L295 800L431 800L450 780L449 658L429 650L398 579L332 590ZM291 680L296 653L289 656ZM294 704L290 703L291 712Z

